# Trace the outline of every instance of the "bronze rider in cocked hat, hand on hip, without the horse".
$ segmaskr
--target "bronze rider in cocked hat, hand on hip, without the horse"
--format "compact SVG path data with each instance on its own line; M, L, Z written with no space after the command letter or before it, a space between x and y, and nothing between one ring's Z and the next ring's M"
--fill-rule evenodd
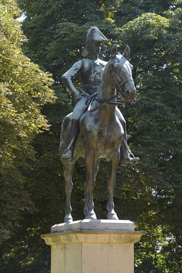
M98 55L101 50L101 43L104 42L107 42L107 38L99 31L97 27L91 27L87 33L86 45L82 53L82 55L84 57L87 56L87 58L75 63L72 68L70 68L62 76L62 80L65 86L72 91L73 98L76 102L71 120L72 126L69 139L71 143L69 147L63 152L61 156L62 160L72 161L78 135L79 120L88 107L86 105L86 100L91 94L98 91L103 69L107 64L106 62L98 59ZM80 76L82 83L80 92L75 88L72 82L72 79L77 75ZM128 163L136 163L139 161L139 158L130 157L131 152L126 144L126 122L118 108L116 108L116 115L119 118L125 133L125 140L122 140L120 148L121 164L126 165Z

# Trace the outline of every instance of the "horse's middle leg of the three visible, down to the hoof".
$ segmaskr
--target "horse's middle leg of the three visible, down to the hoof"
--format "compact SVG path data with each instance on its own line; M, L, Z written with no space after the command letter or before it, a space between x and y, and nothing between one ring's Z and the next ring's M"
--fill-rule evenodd
M93 189L95 187L94 169L95 169L95 155L90 149L86 150L86 169L87 178L85 183L85 219L96 219L95 212L93 210Z

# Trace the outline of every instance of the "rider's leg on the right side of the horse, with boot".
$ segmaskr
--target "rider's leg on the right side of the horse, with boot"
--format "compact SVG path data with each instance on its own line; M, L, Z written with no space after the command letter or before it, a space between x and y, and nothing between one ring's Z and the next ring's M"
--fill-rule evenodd
M122 127L123 127L123 130L124 130L124 136L123 136L123 139L121 141L121 146L120 146L120 155L121 155L121 159L120 159L120 162L121 162L121 165L126 165L128 163L136 163L138 162L140 159L139 157L135 157L129 147L128 147L128 144L127 144L127 133L126 133L126 121L123 117L123 115L121 114L121 112L119 111L119 109L116 107L116 116L118 117ZM130 156L132 155L132 157Z

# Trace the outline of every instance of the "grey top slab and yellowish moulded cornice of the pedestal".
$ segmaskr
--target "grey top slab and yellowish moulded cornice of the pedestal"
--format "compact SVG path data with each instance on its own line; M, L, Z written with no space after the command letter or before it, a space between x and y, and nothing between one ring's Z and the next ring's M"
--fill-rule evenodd
M134 231L134 223L129 220L85 219L71 223L56 224L51 234L41 235L47 245L99 243L101 241L136 243L145 231Z

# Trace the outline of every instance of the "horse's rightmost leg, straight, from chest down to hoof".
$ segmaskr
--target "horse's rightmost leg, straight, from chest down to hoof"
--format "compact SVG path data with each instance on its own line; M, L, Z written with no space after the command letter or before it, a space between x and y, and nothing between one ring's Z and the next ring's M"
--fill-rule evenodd
M107 201L107 219L108 220L118 220L117 214L114 211L114 188L116 184L116 169L120 159L120 152L119 149L115 152L111 161L108 162L108 182L107 182L107 189L108 189L108 201Z

